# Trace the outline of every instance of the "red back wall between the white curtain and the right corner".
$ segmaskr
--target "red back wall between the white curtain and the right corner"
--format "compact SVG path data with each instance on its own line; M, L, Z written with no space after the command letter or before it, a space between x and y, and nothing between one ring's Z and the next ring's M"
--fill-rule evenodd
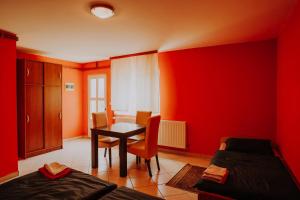
M188 150L276 132L276 41L159 53L162 119L187 121Z

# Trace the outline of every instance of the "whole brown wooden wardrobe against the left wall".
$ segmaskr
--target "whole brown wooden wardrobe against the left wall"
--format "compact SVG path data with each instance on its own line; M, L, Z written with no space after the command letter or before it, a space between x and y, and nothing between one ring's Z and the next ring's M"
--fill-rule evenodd
M19 157L62 148L62 66L17 60Z

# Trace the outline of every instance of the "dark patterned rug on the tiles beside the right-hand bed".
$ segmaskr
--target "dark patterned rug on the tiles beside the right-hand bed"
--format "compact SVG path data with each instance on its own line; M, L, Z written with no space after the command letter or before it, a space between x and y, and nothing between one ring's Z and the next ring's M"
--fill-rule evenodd
M166 185L198 193L194 185L200 180L205 169L204 167L186 164Z

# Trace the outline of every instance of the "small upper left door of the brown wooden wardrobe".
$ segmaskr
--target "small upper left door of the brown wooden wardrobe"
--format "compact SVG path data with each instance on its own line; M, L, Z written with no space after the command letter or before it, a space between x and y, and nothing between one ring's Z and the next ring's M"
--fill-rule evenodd
M43 63L38 61L25 61L25 84L43 84Z

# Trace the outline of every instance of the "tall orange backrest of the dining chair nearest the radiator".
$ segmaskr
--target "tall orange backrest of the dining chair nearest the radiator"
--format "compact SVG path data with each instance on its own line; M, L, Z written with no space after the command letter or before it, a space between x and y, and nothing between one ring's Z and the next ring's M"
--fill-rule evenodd
M148 157L152 157L157 154L159 124L160 124L160 115L150 117L147 121L145 151Z

